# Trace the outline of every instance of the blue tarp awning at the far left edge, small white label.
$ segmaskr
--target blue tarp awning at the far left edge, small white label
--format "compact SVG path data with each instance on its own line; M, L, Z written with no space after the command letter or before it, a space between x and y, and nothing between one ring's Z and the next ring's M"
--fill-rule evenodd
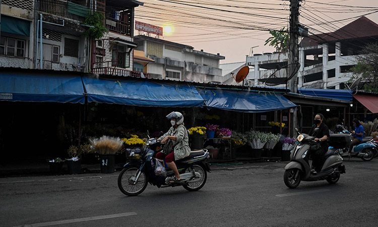
M84 103L81 77L0 74L0 101Z

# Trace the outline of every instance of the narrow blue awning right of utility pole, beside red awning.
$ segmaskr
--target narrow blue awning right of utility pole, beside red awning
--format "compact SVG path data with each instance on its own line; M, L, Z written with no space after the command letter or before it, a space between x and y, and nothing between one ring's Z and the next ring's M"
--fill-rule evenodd
M299 88L298 92L303 95L310 95L310 96L324 97L324 98L334 98L334 99L341 99L341 100L346 100L346 101L351 101L353 99L353 95L350 90Z

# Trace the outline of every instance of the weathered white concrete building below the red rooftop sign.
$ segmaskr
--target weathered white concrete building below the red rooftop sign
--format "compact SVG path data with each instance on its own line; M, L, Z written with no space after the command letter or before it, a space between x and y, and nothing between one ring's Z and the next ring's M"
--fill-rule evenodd
M195 50L194 47L145 35L135 36L137 50L154 62L148 64L152 78L195 82L223 81L219 60L224 56Z

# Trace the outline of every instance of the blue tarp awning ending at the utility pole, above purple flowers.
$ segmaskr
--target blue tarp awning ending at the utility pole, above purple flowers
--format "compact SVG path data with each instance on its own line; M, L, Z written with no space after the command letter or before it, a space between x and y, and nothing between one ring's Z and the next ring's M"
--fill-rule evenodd
M268 112L295 107L280 93L234 90L199 90L208 107L240 112Z

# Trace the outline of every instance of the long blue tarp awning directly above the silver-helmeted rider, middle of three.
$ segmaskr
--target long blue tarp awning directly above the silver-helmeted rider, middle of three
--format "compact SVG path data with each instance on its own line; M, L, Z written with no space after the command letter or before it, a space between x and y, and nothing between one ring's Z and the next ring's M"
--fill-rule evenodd
M138 106L197 107L204 99L193 85L153 82L134 78L83 77L88 102Z

